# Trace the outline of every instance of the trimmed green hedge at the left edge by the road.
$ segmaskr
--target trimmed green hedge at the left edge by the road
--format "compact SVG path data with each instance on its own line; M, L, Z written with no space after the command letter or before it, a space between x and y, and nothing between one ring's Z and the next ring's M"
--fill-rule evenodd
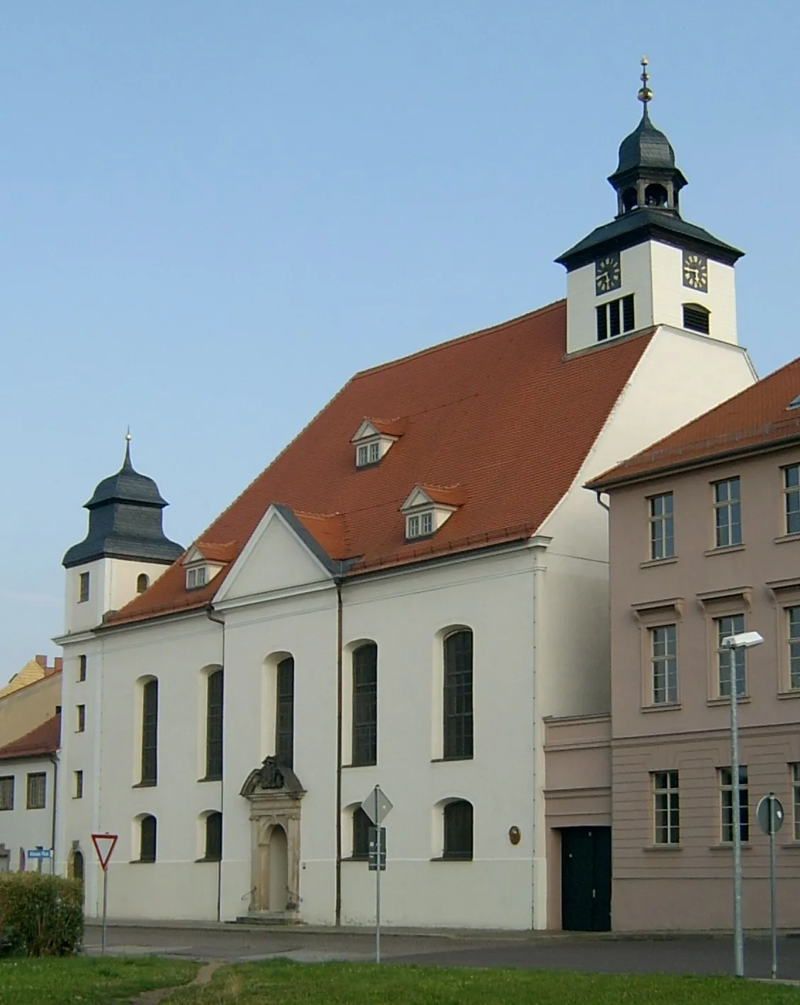
M0 955L70 956L82 940L79 880L39 872L0 873Z

